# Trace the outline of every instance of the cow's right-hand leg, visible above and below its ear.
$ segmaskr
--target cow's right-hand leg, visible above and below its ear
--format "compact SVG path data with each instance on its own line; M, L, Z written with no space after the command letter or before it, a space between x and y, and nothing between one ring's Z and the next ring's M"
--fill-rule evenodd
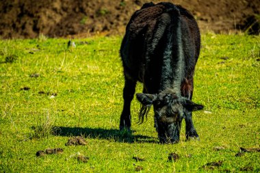
M186 98L192 100L192 94L193 94L193 79L185 79L185 82L182 85L182 91L183 96ZM185 135L186 139L200 139L198 137L198 133L194 127L193 121L192 121L192 111L188 111L187 114L185 114Z

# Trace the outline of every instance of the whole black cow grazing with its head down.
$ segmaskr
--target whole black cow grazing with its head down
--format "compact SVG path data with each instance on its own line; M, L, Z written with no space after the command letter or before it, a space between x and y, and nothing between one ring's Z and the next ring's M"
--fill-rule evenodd
M145 3L127 25L120 55L125 75L124 107L120 130L131 128L130 105L137 81L144 83L136 94L142 103L139 120L153 105L155 127L162 143L179 142L185 118L186 137L198 138L192 111L193 75L200 52L200 32L190 12L172 3Z

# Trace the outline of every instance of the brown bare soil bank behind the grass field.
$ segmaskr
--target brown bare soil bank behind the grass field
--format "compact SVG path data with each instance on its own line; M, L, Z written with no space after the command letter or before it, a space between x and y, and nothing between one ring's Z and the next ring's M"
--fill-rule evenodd
M150 1L0 0L0 38L123 34L131 14ZM202 31L228 33L241 29L259 34L259 0L175 0L174 3L190 10Z

